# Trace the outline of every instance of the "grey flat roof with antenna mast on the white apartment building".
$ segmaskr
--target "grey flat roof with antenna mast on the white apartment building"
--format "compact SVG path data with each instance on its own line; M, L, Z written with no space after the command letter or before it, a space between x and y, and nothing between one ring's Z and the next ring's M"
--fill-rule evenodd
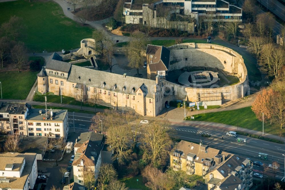
M50 119L43 119L46 118L45 115L40 114L40 110L42 110L42 113L45 113L44 109L34 109L32 108L29 111L29 115L27 116L27 120L35 120L35 121L63 121L64 118L66 117L67 110L52 110L53 112L53 118L52 120ZM50 115L50 110L48 110L48 116ZM48 117L49 118L49 117Z

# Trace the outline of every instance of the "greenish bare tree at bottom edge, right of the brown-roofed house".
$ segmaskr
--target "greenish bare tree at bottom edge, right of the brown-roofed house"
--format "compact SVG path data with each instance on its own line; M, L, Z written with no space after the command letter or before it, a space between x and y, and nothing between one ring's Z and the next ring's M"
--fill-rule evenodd
M117 173L112 164L103 163L98 173L98 186L100 190L104 190L105 187L114 179L117 178Z

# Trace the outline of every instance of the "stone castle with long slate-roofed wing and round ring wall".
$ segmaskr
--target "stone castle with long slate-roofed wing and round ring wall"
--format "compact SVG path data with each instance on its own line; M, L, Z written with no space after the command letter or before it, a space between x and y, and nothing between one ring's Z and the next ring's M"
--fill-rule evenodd
M88 46L86 47L89 48ZM82 52L86 53L84 50ZM64 62L63 57L54 53L38 73L38 91L62 94L77 100L96 102L114 109L124 108L143 116L155 117L165 104L173 100L185 99L187 102L200 102L200 105L203 102L207 105L221 105L245 96L249 90L243 58L230 48L195 43L184 43L168 48L148 45L146 57L148 79L76 66ZM193 66L223 70L237 76L239 82L223 87L219 87L217 82L207 86L199 84L195 86L182 84L182 86L165 78L169 76L169 71ZM200 75L194 74L192 77L196 77L196 82L204 81L207 84L208 80L217 79L210 77L211 72L205 72L207 80L199 79Z

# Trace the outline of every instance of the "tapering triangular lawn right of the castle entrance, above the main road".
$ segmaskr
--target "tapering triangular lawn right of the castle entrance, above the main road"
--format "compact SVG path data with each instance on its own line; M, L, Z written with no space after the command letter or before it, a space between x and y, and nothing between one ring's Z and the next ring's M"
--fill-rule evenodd
M209 106L208 106L209 107ZM201 109L201 106L200 106ZM262 131L262 122L260 122L251 107L245 107L237 110L223 111L223 112L211 112L204 114L198 114L195 116L195 121L209 121L222 124L228 124L233 126L239 126L256 131ZM186 118L186 120L190 120ZM270 122L264 123L264 132L274 135L280 135L280 127L277 124L270 125ZM285 131L282 130L282 136L285 136Z

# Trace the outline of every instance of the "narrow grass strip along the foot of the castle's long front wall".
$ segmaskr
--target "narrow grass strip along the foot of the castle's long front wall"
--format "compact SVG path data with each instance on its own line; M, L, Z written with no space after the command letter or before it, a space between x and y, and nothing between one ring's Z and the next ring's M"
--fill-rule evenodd
M52 92L48 92L46 94L40 94L39 92L37 92L34 96L34 101L37 101L37 102L44 102L44 96L46 95L46 100L47 102L54 102L54 103L60 103L60 96L57 96L57 95L54 95L54 93ZM77 101L75 100L74 98L72 97L69 97L69 96L62 96L62 104L72 104L72 105L77 105L77 106L80 106L81 102L80 101ZM82 106L86 106L86 107L94 107L88 103L82 103ZM106 106L101 106L101 105L96 105L96 108L102 108L102 109L105 109L105 108L108 108Z

